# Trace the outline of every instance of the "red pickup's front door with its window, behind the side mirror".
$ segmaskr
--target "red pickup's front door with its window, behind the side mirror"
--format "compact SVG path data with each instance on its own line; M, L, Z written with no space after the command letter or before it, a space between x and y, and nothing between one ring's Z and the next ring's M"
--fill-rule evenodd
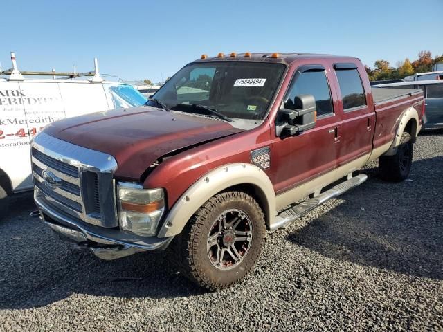
M330 72L329 72L330 73ZM294 109L297 95L313 95L317 121L312 129L296 136L277 137L273 142L273 183L277 194L305 183L337 167L341 144L340 118L334 102L325 66L300 66L295 71L284 97L284 108Z

